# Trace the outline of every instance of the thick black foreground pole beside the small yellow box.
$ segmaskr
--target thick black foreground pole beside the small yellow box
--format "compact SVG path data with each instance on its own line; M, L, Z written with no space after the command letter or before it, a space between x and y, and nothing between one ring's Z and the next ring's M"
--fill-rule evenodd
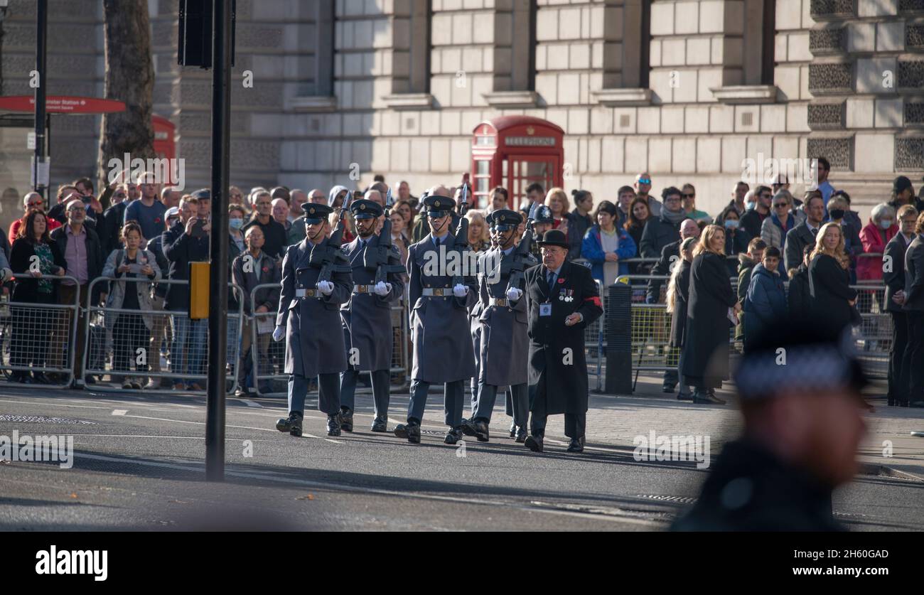
M205 477L225 480L225 359L227 358L230 177L231 0L214 0L212 70L212 249L209 267L209 380L205 412ZM237 364L237 362L236 362Z

